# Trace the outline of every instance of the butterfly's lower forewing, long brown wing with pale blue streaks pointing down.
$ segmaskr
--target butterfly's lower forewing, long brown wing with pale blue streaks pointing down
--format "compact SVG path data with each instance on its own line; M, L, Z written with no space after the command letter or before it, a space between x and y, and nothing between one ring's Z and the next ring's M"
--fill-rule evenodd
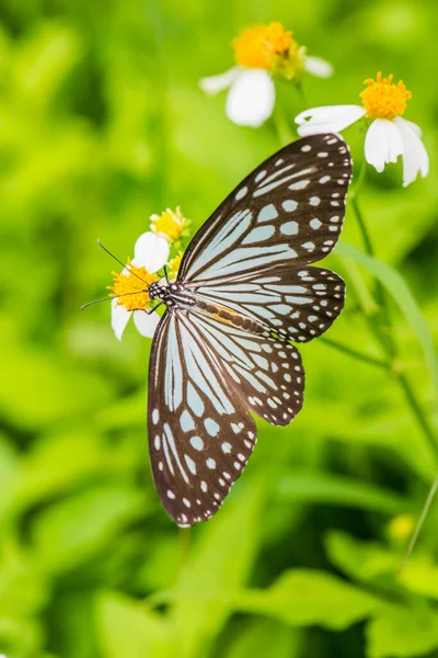
M153 479L181 526L217 511L255 443L255 422L196 319L168 311L153 339L148 433Z

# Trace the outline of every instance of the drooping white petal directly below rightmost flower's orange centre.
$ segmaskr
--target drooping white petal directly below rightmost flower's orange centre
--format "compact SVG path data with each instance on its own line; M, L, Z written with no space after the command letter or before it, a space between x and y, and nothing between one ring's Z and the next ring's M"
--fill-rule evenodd
M403 154L400 132L393 121L376 118L365 137L365 159L377 171L383 171L388 162L396 162Z

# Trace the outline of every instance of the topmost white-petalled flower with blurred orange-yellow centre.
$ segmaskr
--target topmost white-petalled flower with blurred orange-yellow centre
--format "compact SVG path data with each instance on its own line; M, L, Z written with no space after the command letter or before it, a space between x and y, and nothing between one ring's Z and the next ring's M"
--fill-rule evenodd
M201 78L199 87L209 94L229 89L226 114L240 126L257 128L274 111L274 77L300 80L302 71L327 78L332 66L320 57L308 57L291 32L280 23L250 27L233 42L238 66L219 76Z

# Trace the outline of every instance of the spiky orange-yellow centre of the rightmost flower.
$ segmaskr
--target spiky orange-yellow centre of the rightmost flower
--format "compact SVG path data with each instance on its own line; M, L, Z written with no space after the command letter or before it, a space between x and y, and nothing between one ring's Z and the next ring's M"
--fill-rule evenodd
M412 93L403 84L402 80L393 83L393 75L382 78L378 72L376 80L365 80L366 89L359 94L367 118L394 118L401 116L406 110L406 101Z

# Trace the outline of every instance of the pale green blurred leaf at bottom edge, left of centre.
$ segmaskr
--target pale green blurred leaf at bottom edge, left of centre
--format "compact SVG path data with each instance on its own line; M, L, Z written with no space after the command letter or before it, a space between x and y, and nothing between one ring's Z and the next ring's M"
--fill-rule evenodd
M104 658L171 658L171 628L163 617L128 597L96 598L97 639Z

